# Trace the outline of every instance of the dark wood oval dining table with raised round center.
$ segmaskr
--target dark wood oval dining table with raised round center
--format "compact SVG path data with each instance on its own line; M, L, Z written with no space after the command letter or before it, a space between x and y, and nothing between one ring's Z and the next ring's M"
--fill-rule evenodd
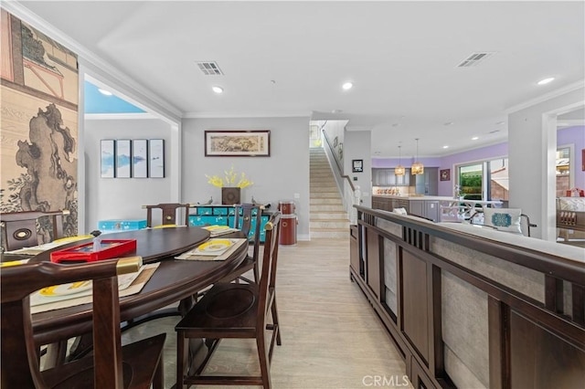
M224 278L246 258L248 246L238 247L229 258L216 260L175 259L197 247L209 238L209 232L195 226L142 229L102 236L104 239L136 239L136 250L122 257L141 256L144 263L160 262L144 288L131 296L120 299L122 321L135 318L189 299L201 289ZM236 232L225 237L244 237ZM50 252L73 247L90 241L68 243L48 250L30 261L50 260ZM59 342L91 331L91 304L83 304L59 310L49 310L33 315L33 332L37 345Z

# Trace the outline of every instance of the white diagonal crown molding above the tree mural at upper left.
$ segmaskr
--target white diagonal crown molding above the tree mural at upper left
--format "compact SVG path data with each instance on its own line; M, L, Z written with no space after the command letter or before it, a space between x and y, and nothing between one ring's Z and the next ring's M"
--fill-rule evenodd
M10 14L18 17L27 24L34 26L43 34L55 39L61 45L68 47L69 50L78 55L78 60L83 60L86 63L86 66L90 65L89 68L100 69L101 73L107 75L106 78L114 84L114 88L120 89L120 86L122 86L124 89L128 90L128 94L133 94L130 92L133 90L139 98L136 100L148 101L146 104L150 110L159 111L161 114L164 114L169 118L174 118L177 121L180 120L182 117L181 110L178 110L168 101L161 99L151 90L144 88L144 86L139 84L132 77L123 73L118 68L113 67L109 62L106 62L97 54L81 45L80 42L63 33L56 26L49 24L42 17L37 16L37 14L30 11L26 5L21 3L24 2L4 1L2 2L2 7Z

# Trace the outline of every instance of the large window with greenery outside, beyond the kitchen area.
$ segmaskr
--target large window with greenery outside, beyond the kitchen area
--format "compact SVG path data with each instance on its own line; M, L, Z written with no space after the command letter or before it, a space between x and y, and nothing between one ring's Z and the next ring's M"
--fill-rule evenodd
M457 183L466 199L508 200L510 185L507 158L461 164L456 171Z

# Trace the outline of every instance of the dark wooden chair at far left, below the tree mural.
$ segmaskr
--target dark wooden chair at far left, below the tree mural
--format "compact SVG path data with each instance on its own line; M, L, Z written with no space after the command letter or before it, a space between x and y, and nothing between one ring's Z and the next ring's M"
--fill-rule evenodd
M69 210L0 213L2 249L12 251L23 247L34 247L63 237L63 218L69 214ZM47 222L47 228L45 228L45 222ZM37 223L41 224L40 234Z

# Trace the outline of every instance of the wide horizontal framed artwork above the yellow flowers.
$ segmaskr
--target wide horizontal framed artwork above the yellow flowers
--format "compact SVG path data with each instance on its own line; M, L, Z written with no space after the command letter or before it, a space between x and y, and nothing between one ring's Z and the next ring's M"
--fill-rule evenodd
M271 131L205 131L205 155L270 157Z

